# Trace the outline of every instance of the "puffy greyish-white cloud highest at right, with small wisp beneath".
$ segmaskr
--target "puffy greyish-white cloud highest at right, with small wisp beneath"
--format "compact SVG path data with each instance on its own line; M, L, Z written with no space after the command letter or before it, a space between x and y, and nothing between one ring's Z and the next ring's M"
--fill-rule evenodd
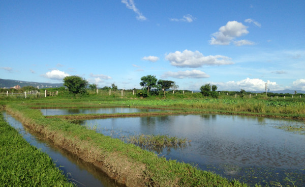
M228 21L226 25L221 26L219 31L212 34L212 38L209 40L211 45L229 45L236 37L246 35L249 33L248 26L243 25L237 21ZM234 42L235 45L252 45L254 44L248 40L240 40Z

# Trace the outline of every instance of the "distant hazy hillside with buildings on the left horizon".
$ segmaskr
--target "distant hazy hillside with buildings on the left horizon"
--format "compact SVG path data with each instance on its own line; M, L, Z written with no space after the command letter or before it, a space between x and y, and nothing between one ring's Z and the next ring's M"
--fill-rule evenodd
M36 83L36 82L26 82L26 81L17 81L11 79L1 79L0 78L0 88L12 88L16 85L19 85L21 88L25 86L33 86L35 88L59 88L63 86L63 83Z

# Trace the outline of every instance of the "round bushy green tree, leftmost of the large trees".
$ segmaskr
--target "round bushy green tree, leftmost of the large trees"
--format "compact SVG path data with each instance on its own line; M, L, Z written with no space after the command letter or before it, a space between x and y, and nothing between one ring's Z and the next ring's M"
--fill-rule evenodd
M64 86L69 89L69 92L74 94L82 94L86 92L88 81L80 76L72 75L64 78Z

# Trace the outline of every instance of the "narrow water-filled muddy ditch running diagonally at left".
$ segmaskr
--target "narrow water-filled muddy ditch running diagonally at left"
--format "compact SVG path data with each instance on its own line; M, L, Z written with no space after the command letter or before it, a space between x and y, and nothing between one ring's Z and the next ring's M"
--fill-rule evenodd
M40 140L34 134L29 133L22 124L14 119L12 116L4 113L6 121L19 131L23 138L31 145L41 149L41 151L47 153L54 161L60 170L64 171L64 174L68 176L69 180L74 182L77 186L125 186L109 178L101 170L89 163L84 163L75 155L68 151L53 146L47 141Z

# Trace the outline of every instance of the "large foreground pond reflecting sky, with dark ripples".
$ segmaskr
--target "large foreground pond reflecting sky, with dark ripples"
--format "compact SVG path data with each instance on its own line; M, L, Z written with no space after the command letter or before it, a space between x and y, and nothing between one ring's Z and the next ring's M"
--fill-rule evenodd
M277 127L304 122L232 115L178 115L93 119L79 122L112 137L169 135L192 142L163 149L160 156L190 163L229 179L304 186L305 135ZM286 178L287 177L287 178ZM288 179L288 180L287 180Z

